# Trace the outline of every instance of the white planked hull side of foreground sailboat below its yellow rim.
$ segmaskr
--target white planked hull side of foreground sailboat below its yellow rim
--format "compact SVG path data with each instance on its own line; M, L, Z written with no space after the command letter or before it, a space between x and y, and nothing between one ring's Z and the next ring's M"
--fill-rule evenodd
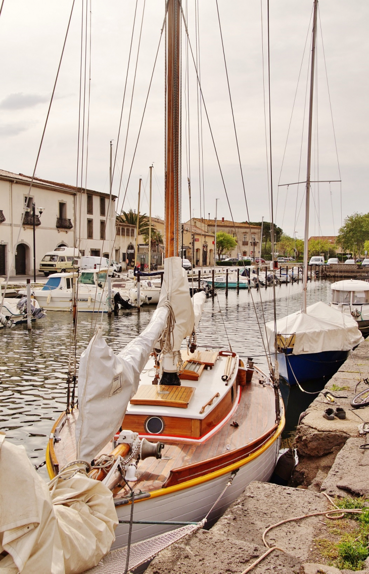
M227 488L208 520L219 518L253 480L266 482L270 479L277 461L279 443L278 437L259 456L239 468L231 486ZM200 521L207 515L230 476L231 472L228 471L226 474L195 486L174 492L172 488L169 488L168 494L137 501L134 504L133 519L134 521ZM120 520L129 520L131 505L118 506L116 511ZM134 543L146 540L175 528L179 526L134 524L131 541ZM116 538L111 548L126 546L128 532L128 524L119 524L115 530Z

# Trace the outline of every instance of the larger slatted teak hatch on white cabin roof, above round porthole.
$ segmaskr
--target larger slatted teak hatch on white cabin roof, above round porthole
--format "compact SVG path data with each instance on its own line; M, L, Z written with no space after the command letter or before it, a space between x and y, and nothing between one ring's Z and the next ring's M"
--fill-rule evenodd
M173 406L187 409L195 390L195 387L186 386L140 385L130 403L132 405ZM160 391L168 394L160 394Z

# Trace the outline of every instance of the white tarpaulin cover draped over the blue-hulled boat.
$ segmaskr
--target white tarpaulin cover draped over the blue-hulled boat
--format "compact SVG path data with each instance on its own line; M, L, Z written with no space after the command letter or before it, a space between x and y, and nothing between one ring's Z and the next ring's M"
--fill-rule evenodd
M274 321L266 323L266 343L274 352ZM306 313L297 311L277 321L277 333L296 333L293 355L322 351L349 351L364 339L358 323L349 315L318 301L306 308Z

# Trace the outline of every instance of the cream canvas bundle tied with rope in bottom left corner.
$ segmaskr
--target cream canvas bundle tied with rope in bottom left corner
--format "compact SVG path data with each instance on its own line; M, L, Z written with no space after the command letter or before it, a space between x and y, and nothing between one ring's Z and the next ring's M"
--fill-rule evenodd
M0 573L77 574L110 550L118 524L110 490L86 475L53 495L24 447L0 434ZM7 554L6 554L7 553Z

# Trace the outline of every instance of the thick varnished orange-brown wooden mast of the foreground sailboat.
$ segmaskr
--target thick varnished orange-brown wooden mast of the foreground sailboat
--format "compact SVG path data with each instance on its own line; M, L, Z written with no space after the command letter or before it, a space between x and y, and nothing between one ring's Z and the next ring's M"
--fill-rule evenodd
M166 102L165 257L179 248L180 24L178 0L168 2L168 79Z

